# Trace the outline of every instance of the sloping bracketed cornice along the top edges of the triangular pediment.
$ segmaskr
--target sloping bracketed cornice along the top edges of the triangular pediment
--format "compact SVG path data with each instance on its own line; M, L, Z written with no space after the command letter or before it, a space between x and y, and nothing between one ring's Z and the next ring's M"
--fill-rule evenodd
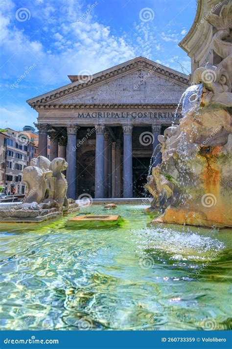
M118 77L120 75L124 75L139 68L144 68L157 75L161 75L169 80L182 84L183 86L189 86L189 80L187 77L185 77L185 75L141 57L132 60L131 63L125 64L124 66L119 65L119 68L114 69L113 67L112 70L108 70L106 73L102 73L100 75L99 73L94 74L93 79L90 79L87 82L75 81L69 85L64 86L63 88L52 91L53 93L50 92L39 96L40 98L38 97L38 99L33 98L31 100L27 100L27 103L35 109L36 104L50 103L54 100L69 96L86 88L93 87L96 84L107 81L114 77Z

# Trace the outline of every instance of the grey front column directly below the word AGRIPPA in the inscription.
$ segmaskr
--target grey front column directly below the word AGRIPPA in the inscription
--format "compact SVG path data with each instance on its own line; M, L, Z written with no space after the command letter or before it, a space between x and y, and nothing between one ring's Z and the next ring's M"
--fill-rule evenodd
M95 198L104 198L104 125L95 125Z

